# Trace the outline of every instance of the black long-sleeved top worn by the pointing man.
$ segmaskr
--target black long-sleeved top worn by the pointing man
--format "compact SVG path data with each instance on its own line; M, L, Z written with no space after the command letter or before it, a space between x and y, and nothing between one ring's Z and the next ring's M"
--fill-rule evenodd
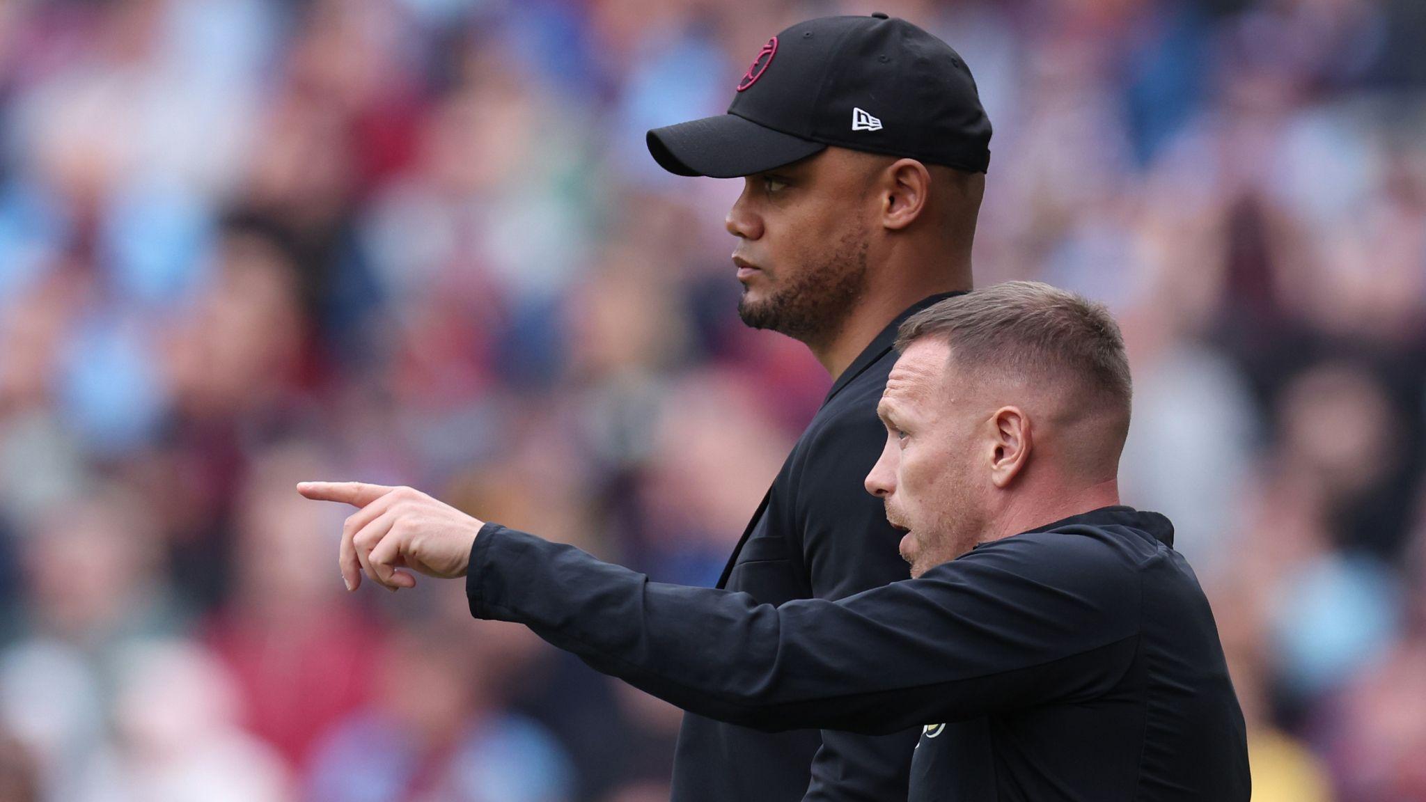
M488 524L466 595L476 618L710 719L918 725L913 802L1246 802L1242 712L1172 532L1107 507L918 579L774 606Z

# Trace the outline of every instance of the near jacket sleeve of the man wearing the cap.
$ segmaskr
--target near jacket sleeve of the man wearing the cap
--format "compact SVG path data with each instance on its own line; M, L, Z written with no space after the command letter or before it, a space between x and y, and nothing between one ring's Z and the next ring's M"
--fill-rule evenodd
M887 522L881 499L863 487L886 444L886 427L876 417L883 384L844 391L867 397L847 404L813 437L799 472L794 529L813 598L843 599L908 577L897 549L901 534ZM920 728L880 736L821 731L807 798L904 799L917 738Z

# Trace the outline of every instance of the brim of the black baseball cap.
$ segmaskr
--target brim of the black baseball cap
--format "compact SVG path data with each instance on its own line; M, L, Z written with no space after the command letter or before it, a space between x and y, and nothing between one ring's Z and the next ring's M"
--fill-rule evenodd
M649 153L674 176L737 178L791 164L827 146L764 128L737 114L719 114L653 128Z

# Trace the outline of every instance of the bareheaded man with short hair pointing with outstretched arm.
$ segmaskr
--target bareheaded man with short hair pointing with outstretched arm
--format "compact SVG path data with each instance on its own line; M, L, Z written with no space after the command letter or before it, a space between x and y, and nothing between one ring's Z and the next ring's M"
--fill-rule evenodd
M1129 374L1114 320L1044 284L953 297L900 328L866 478L913 579L780 606L655 584L409 488L362 507L366 574L466 577L472 615L717 721L921 725L910 799L1246 802L1246 736L1174 528L1119 504ZM345 558L344 558L345 559Z

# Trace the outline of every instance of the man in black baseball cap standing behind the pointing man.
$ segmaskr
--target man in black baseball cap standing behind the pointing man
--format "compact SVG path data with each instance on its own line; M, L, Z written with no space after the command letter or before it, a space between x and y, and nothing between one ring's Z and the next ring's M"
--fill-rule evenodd
M870 17L767 40L727 114L649 131L679 176L743 177L727 214L747 325L803 341L833 387L719 582L759 602L840 599L906 578L901 534L861 482L897 324L971 288L991 127L940 39ZM904 799L917 732L764 734L683 719L673 802Z

